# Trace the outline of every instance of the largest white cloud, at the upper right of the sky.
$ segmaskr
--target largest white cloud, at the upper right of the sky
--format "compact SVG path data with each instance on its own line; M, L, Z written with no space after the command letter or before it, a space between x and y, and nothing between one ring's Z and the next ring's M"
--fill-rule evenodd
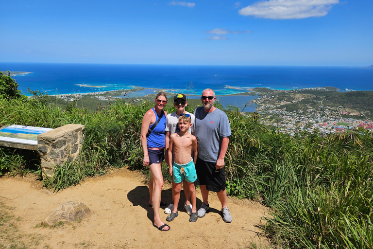
M270 19L303 19L323 17L333 4L339 0L268 0L258 1L238 13L242 16L254 16Z

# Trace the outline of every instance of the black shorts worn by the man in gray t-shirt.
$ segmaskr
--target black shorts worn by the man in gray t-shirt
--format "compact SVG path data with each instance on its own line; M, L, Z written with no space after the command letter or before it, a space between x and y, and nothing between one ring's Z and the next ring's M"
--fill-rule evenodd
M206 185L206 189L213 192L225 190L225 170L224 167L216 170L216 162L208 162L197 158L196 172L197 180L194 185Z

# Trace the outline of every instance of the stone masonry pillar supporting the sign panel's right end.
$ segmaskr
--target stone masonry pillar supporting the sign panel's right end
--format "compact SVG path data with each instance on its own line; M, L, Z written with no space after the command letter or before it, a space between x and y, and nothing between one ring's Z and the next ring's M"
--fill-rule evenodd
M41 167L48 177L53 177L55 165L79 159L83 144L84 125L64 125L37 136L37 150Z

